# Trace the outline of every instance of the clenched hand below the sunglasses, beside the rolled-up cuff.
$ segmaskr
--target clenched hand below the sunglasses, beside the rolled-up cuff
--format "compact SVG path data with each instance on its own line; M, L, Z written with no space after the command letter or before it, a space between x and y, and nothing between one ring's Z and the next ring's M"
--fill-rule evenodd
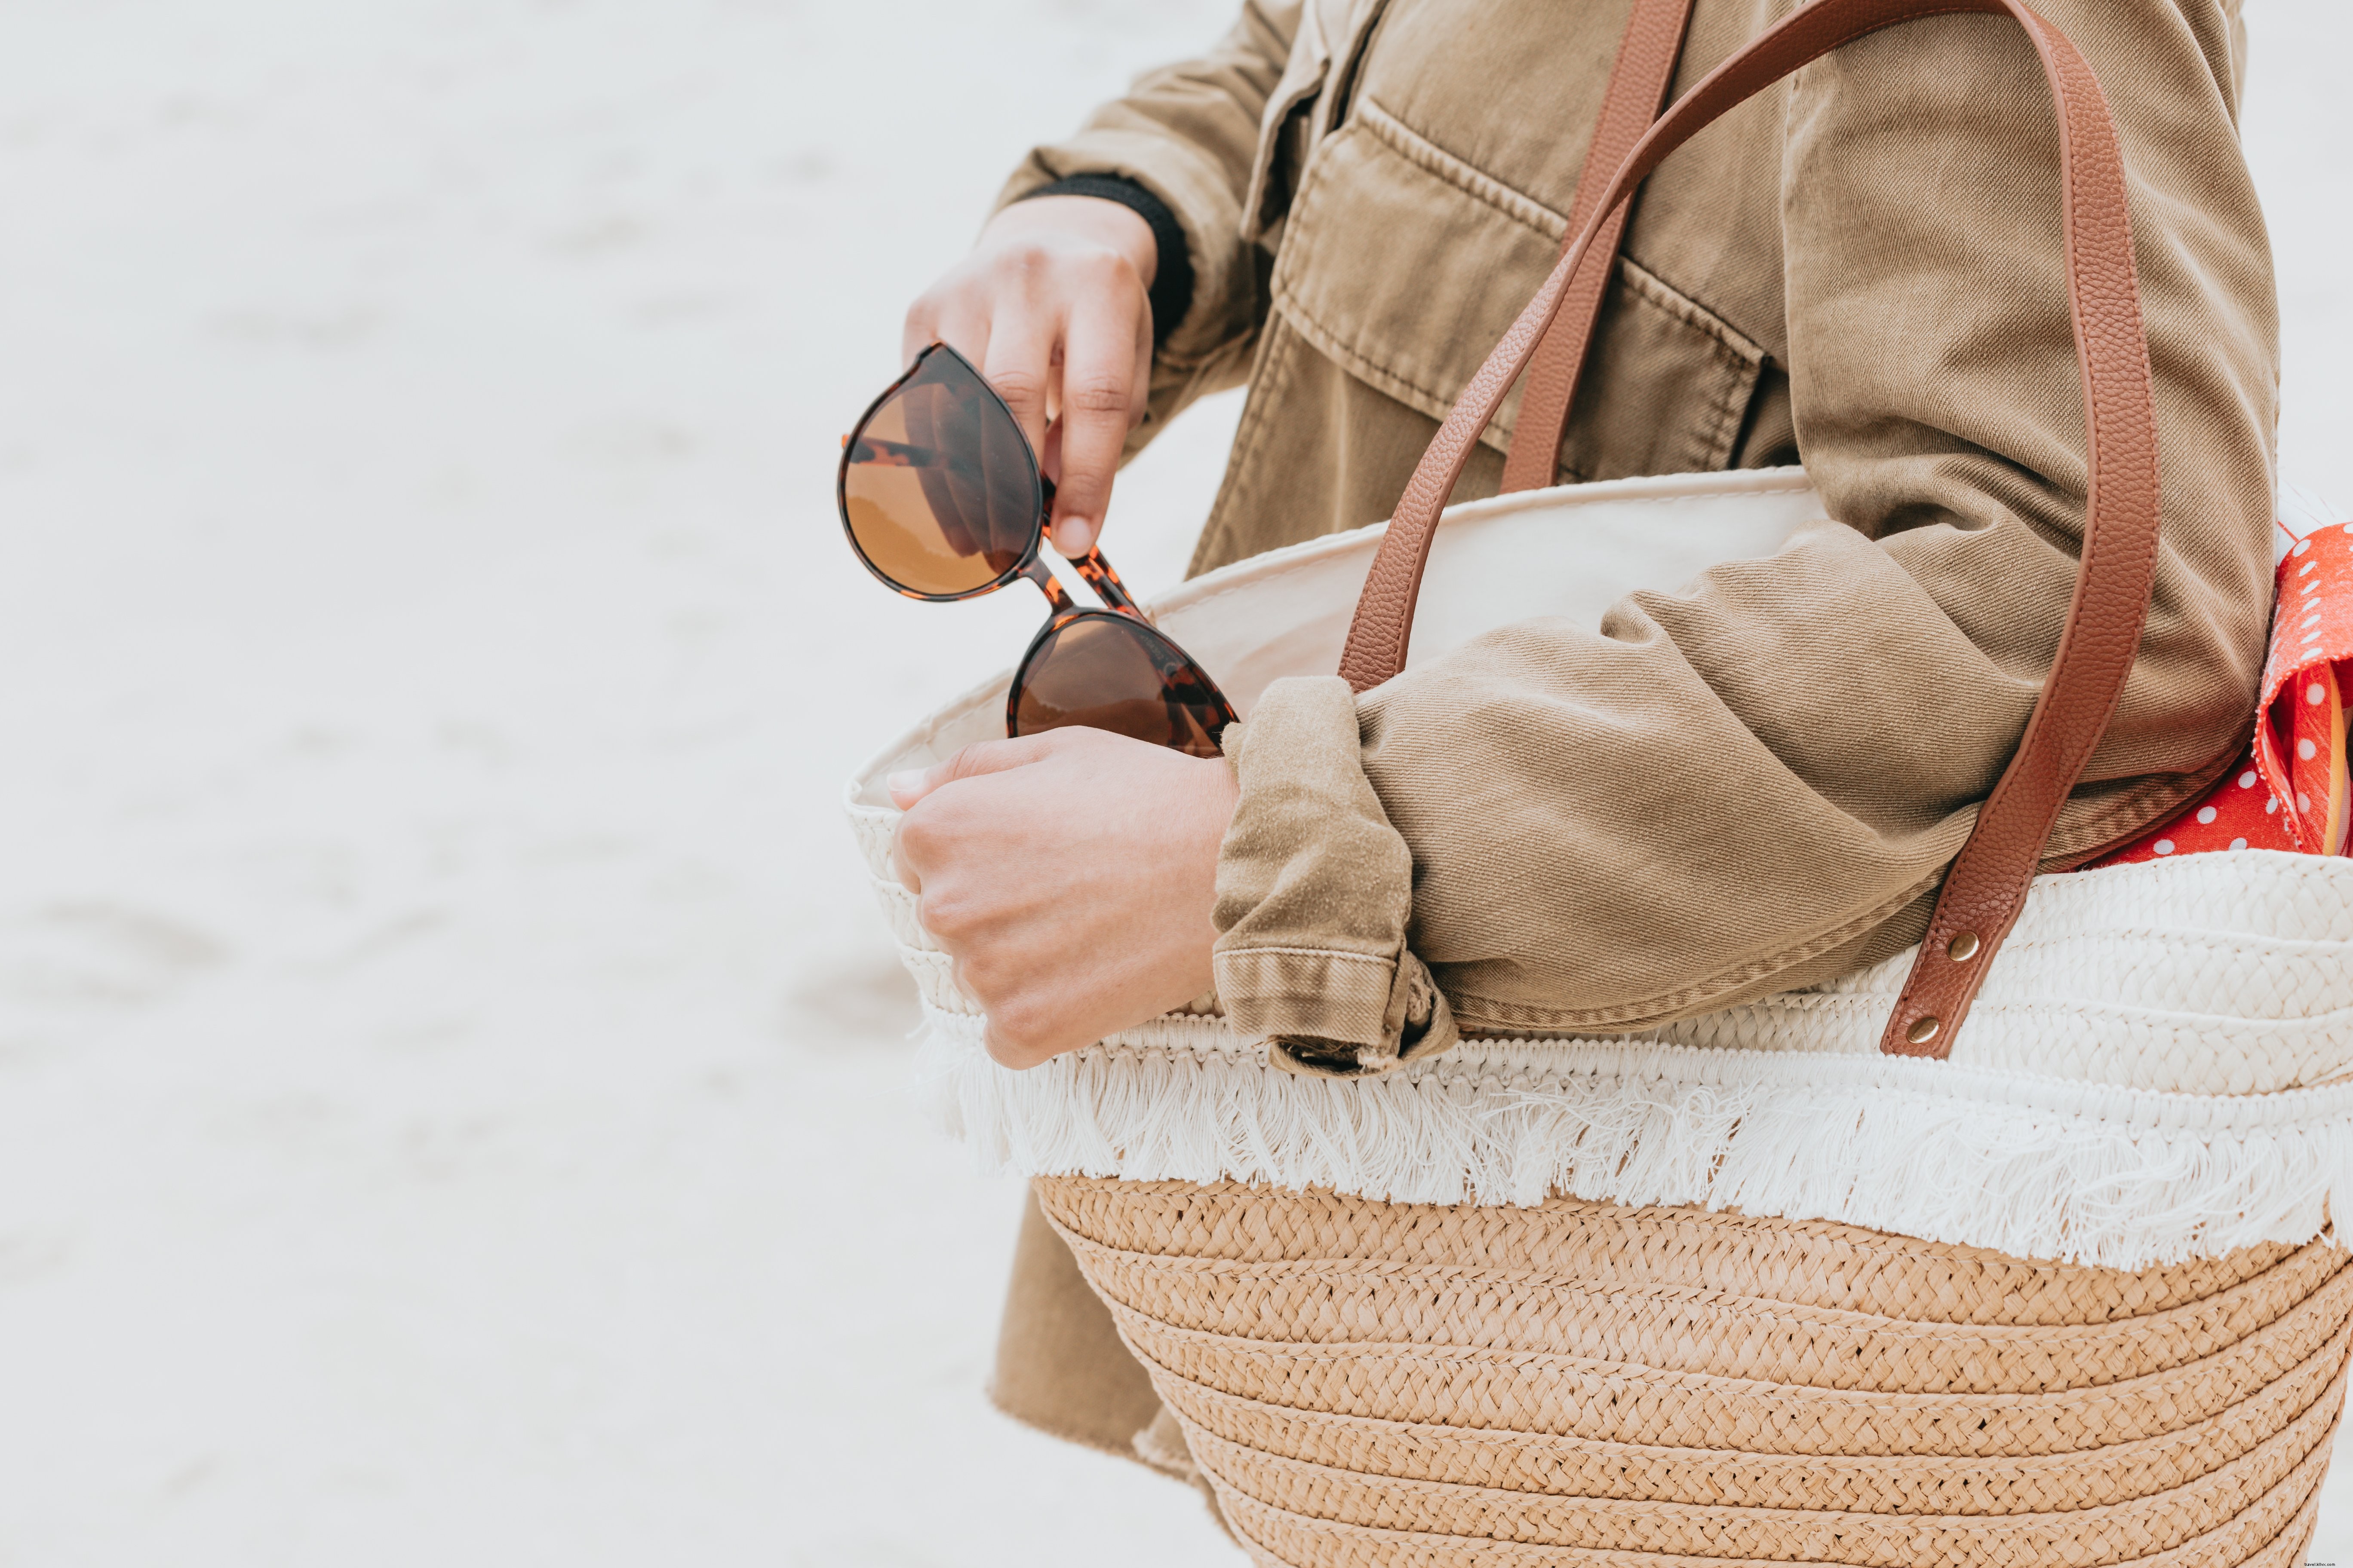
M967 745L894 773L889 792L906 811L899 882L1007 1067L1209 990L1217 846L1238 795L1224 759L1056 729Z

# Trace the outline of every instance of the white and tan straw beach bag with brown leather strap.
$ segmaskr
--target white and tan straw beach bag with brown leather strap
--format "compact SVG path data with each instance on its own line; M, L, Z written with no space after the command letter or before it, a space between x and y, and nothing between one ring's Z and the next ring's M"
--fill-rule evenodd
M1155 614L1247 715L1282 675L1365 691L1409 637L1593 625L1628 590L1835 527L1802 470L1440 508L1668 150L1946 12L2014 19L2052 87L2092 494L2059 658L1915 952L1640 1037L1464 1039L1362 1079L1287 1072L1214 1011L1009 1072L892 879L882 788L1000 736L1005 677L849 788L951 1121L1040 1178L1261 1563L2301 1563L2353 1345L2329 1227L2353 1201L2353 863L2153 851L2035 875L2158 545L2122 162L2049 24L2017 0L1791 14L1640 139L1388 524ZM1588 329L1562 339L1572 374ZM2339 529L2287 571L2322 555L2353 574ZM2266 703L2339 658L2353 616L2275 642Z

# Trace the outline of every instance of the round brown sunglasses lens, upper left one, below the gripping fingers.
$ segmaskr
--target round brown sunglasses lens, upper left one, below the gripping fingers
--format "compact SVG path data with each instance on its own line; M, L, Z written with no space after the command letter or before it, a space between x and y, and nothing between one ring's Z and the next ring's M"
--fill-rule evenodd
M1021 425L944 348L849 437L842 520L894 588L988 588L1028 552L1038 512L1038 463Z

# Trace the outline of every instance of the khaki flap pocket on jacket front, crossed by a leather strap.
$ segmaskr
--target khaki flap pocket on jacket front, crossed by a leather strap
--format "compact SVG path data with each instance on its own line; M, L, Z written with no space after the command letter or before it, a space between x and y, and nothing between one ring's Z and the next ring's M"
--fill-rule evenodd
M1308 162L1273 306L1348 374L1445 418L1534 296L1567 219L1360 99ZM1562 468L1577 480L1727 468L1765 350L1621 256ZM1485 433L1511 447L1520 388Z

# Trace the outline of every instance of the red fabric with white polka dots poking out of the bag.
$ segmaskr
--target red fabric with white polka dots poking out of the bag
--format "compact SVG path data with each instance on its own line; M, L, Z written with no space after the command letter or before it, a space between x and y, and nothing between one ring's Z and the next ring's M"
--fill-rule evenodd
M2301 538L2280 557L2271 658L2245 757L2202 799L2092 865L2221 849L2346 853L2353 522L2337 517L2308 531L2282 522Z

